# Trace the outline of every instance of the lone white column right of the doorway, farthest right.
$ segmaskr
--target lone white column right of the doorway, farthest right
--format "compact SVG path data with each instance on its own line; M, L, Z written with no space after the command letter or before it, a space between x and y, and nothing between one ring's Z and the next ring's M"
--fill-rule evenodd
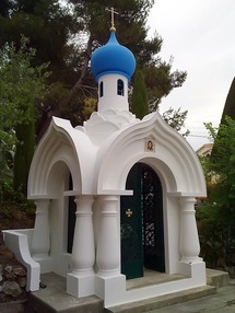
M195 202L192 197L180 198L180 237L179 237L179 253L180 260L186 263L193 263L199 260L200 244L198 237L198 229L195 217Z

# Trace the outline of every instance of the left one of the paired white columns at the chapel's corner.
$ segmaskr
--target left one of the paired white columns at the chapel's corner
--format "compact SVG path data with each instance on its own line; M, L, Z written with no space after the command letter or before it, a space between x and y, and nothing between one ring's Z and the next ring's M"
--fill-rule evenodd
M73 273L91 274L95 263L94 231L92 221L92 196L75 198L77 220L72 246L71 264Z

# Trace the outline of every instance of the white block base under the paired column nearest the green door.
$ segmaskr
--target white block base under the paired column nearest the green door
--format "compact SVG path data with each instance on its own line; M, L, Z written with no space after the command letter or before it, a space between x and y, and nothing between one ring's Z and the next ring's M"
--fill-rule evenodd
M124 300L126 292L126 276L117 274L115 276L96 275L95 294L104 299L105 306L114 305Z

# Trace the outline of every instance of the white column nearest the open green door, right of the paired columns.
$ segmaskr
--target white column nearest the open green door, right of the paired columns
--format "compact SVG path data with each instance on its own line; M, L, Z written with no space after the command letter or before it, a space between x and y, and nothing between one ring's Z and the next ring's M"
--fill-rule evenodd
M96 264L98 275L119 274L118 196L99 197Z

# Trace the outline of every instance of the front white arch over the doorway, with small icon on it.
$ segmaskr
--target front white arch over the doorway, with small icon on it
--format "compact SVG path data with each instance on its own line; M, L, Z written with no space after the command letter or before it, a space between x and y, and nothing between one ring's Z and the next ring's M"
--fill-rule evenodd
M148 159L164 179L171 194L205 196L205 183L200 162L188 142L166 125L158 113L120 130L107 141L97 155L97 193L125 190L131 166ZM145 139L155 142L155 152L145 152ZM96 163L97 164L97 163Z

